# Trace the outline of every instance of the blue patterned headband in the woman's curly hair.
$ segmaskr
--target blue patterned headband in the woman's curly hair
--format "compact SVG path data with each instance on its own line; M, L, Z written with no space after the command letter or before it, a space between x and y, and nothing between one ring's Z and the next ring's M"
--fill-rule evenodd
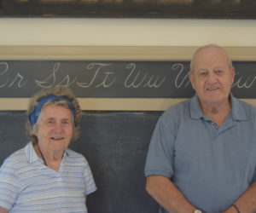
M64 96L57 96L57 95L47 95L44 96L43 98L38 100L38 106L34 107L34 110L29 114L29 120L32 124L32 126L34 126L34 124L37 123L38 121L38 116L42 110L42 107L44 107L44 104L48 101L66 101L68 107L70 108L72 114L73 114L73 118L75 118L76 112L73 108L73 105L71 103L71 101L69 101L66 97Z

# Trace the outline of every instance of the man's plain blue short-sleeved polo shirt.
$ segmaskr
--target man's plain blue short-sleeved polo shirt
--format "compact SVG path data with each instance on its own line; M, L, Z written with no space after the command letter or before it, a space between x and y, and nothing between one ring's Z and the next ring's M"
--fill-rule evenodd
M230 99L220 127L203 114L196 95L170 107L148 148L145 175L169 177L207 213L226 210L256 181L256 108Z

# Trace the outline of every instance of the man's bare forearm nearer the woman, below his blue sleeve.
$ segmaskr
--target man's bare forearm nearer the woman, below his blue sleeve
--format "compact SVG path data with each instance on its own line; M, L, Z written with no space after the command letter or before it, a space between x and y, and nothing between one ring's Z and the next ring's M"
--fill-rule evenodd
M146 190L162 207L170 212L192 213L196 209L165 176L148 176Z

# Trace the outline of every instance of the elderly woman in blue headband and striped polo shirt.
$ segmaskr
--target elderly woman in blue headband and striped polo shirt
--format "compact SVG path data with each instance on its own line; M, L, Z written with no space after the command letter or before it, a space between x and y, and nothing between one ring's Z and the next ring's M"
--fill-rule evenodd
M27 114L31 142L0 169L0 212L87 212L96 185L86 159L67 148L79 136L79 102L65 87L44 90Z

